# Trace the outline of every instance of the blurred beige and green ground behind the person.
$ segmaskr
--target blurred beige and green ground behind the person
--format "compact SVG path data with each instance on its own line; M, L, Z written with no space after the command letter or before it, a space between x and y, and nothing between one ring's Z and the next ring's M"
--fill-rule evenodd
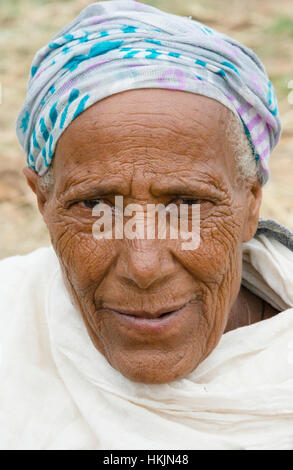
M49 244L22 168L15 119L33 56L89 0L0 0L0 258ZM262 216L293 229L293 0L145 0L192 16L254 49L275 86L283 123L264 188ZM291 95L290 95L291 91Z

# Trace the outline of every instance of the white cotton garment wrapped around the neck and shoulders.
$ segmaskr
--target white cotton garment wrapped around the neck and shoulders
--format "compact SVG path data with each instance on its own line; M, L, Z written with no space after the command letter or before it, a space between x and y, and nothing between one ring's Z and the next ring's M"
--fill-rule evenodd
M186 378L131 382L93 346L52 248L0 262L1 449L292 449L293 252L259 235L243 283L281 313Z

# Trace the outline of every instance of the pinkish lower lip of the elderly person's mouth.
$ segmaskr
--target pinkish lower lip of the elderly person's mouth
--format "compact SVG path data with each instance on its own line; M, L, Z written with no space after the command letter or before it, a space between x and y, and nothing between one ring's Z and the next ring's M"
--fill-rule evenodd
M115 310L110 310L117 316L119 322L129 329L140 331L141 333L161 333L174 327L181 321L181 317L188 308L188 304L183 305L179 310L169 313L160 318L139 318L132 315L125 315Z

